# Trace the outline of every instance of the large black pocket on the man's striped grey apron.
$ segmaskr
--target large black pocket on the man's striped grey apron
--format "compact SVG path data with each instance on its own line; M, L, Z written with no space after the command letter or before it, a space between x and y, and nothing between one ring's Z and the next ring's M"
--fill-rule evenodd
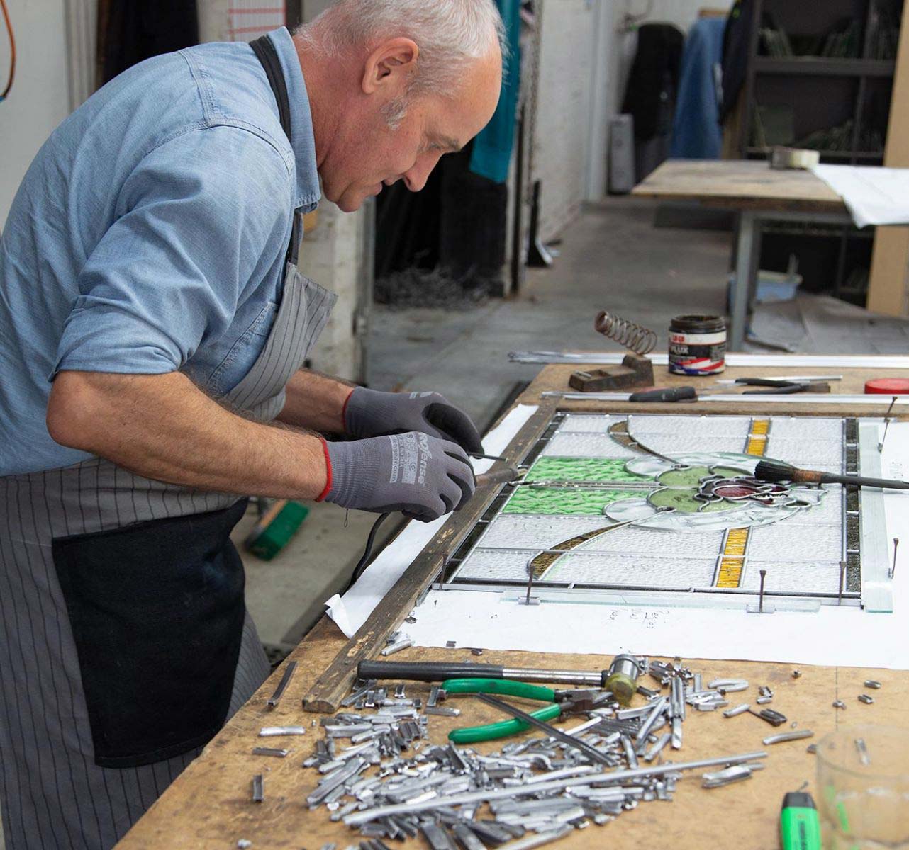
M245 509L53 540L96 765L163 761L224 725L245 620L229 535Z

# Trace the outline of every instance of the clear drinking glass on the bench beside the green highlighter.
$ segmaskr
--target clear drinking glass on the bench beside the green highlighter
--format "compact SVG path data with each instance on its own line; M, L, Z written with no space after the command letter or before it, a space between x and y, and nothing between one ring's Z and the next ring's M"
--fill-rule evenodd
M845 726L817 745L824 850L909 850L909 731Z

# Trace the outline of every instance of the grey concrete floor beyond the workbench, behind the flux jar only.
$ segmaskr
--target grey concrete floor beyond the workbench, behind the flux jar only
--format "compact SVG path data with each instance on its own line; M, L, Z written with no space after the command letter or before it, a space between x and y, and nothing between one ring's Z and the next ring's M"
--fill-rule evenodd
M549 269L527 272L525 292L464 312L376 307L370 336L377 390L438 390L487 423L516 381L538 366L513 350L624 351L594 331L609 310L658 331L673 316L723 312L731 234L654 231L654 203L614 198L587 208L564 233Z

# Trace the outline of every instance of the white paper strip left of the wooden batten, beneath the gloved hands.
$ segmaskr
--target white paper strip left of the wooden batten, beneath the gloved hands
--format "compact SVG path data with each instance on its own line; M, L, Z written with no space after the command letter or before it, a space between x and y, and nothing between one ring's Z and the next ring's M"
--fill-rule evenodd
M534 404L519 404L510 410L483 440L486 454L501 454L514 436L522 429L524 423L536 411ZM485 472L493 465L493 460L474 460L474 470ZM347 637L355 634L373 613L373 608L392 588L395 581L404 574L411 561L416 558L426 544L435 537L436 532L445 525L448 517L436 519L435 522L411 522L402 531L395 542L383 551L363 575L340 597L337 594L325 602L328 616L335 620L338 628Z

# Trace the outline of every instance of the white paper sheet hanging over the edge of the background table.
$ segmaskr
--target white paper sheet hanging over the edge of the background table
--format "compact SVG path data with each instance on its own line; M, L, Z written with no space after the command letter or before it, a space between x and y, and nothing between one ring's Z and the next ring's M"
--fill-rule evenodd
M856 226L909 224L909 168L815 165L812 172L843 198Z

